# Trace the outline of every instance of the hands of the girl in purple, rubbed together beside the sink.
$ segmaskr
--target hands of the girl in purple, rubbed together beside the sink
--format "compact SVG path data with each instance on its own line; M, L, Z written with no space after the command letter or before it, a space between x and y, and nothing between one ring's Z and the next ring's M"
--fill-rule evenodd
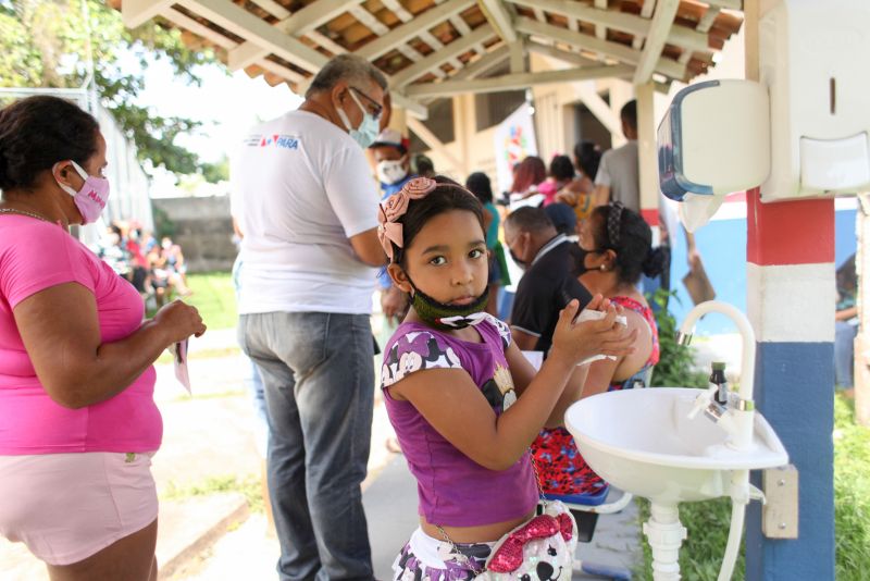
M625 325L617 323L621 307L611 305L601 295L595 295L586 308L605 312L605 318L577 323L575 319L580 314L580 302L569 302L559 313L550 357L564 358L576 364L596 355L623 357L634 351L637 332L629 332Z

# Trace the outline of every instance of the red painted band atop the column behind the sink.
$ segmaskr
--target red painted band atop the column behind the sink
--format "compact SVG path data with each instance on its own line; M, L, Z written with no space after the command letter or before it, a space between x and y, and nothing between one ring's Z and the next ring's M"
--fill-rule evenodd
M754 264L816 264L834 261L834 200L762 203L758 188L746 193L746 259Z

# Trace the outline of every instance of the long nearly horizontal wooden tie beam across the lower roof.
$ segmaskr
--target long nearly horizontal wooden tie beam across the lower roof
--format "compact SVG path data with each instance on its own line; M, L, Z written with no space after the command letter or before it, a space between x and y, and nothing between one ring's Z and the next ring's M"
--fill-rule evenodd
M463 92L499 92L504 90L526 89L536 85L573 83L593 78L627 77L634 72L632 66L595 66L589 69L566 69L540 73L507 74L492 78L473 81L445 81L411 85L406 89L409 97L447 97Z

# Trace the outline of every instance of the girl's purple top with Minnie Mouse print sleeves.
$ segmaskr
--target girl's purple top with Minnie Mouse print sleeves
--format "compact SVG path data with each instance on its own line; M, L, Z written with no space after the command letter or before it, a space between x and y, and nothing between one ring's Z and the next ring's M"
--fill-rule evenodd
M486 316L474 326L483 343L469 343L421 323L402 323L386 345L381 388L408 467L417 478L419 511L433 524L475 527L527 515L538 492L529 453L507 470L489 470L445 440L410 401L389 386L426 369L462 369L500 415L515 400L505 349L510 330ZM433 390L438 385L433 384Z

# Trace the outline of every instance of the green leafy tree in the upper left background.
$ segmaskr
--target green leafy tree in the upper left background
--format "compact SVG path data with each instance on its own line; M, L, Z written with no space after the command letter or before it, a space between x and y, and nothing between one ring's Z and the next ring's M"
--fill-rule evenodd
M160 18L127 29L121 12L105 2L0 0L0 86L80 87L89 75L89 53L100 102L136 144L139 159L176 173L196 172L197 156L174 140L199 122L158 115L136 97L149 59L166 59L176 75L199 84L196 66L214 63L212 52L189 50L181 32Z

